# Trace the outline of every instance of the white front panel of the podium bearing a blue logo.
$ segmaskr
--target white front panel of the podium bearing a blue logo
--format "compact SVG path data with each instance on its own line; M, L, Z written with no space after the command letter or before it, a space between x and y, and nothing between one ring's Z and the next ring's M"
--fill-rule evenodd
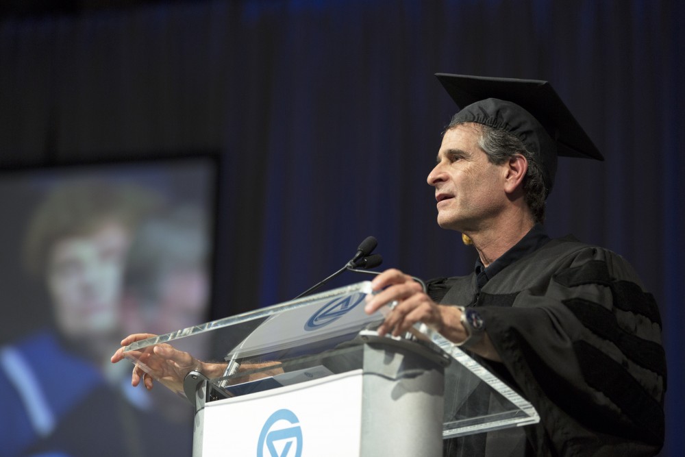
M202 455L353 457L361 428L358 369L205 404Z

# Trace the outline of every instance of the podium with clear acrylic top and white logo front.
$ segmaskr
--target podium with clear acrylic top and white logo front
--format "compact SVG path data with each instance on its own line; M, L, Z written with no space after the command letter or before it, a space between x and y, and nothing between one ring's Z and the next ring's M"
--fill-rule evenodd
M370 282L138 341L145 364L169 343L227 362L220 378L191 371L193 456L440 456L442 440L539 421L532 405L443 336L416 325L375 332ZM163 382L162 382L163 383ZM178 390L178 389L174 389Z

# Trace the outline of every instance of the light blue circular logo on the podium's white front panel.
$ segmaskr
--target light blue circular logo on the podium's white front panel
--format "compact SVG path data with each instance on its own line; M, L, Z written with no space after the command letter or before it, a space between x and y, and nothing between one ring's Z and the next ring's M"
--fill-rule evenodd
M302 429L290 410L277 410L266 419L257 443L257 457L300 457Z

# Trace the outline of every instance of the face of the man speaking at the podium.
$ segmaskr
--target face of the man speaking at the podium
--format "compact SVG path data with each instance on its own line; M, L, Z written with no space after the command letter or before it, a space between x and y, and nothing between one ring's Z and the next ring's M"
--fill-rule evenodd
M480 129L462 124L443 136L437 164L428 175L434 186L438 225L459 232L484 230L505 208L506 171L492 164L479 147Z

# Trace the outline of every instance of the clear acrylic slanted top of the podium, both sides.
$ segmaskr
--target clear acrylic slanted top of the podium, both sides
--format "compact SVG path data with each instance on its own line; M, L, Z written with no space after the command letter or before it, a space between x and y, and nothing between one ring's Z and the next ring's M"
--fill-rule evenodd
M199 360L225 362L224 375L211 380L225 397L333 374L340 364L332 367L327 361L334 356L356 369L357 348L364 341L360 334L373 332L387 310L364 312L365 298L371 293L371 282L336 288L136 341L125 347L125 357L181 394L182 388L165 383L147 363L155 345L169 343ZM529 402L442 335L423 324L416 325L412 334L408 336L449 364L445 369L445 438L539 421ZM490 401L486 410L474 415L473 408L466 406L475 391L490 395Z

